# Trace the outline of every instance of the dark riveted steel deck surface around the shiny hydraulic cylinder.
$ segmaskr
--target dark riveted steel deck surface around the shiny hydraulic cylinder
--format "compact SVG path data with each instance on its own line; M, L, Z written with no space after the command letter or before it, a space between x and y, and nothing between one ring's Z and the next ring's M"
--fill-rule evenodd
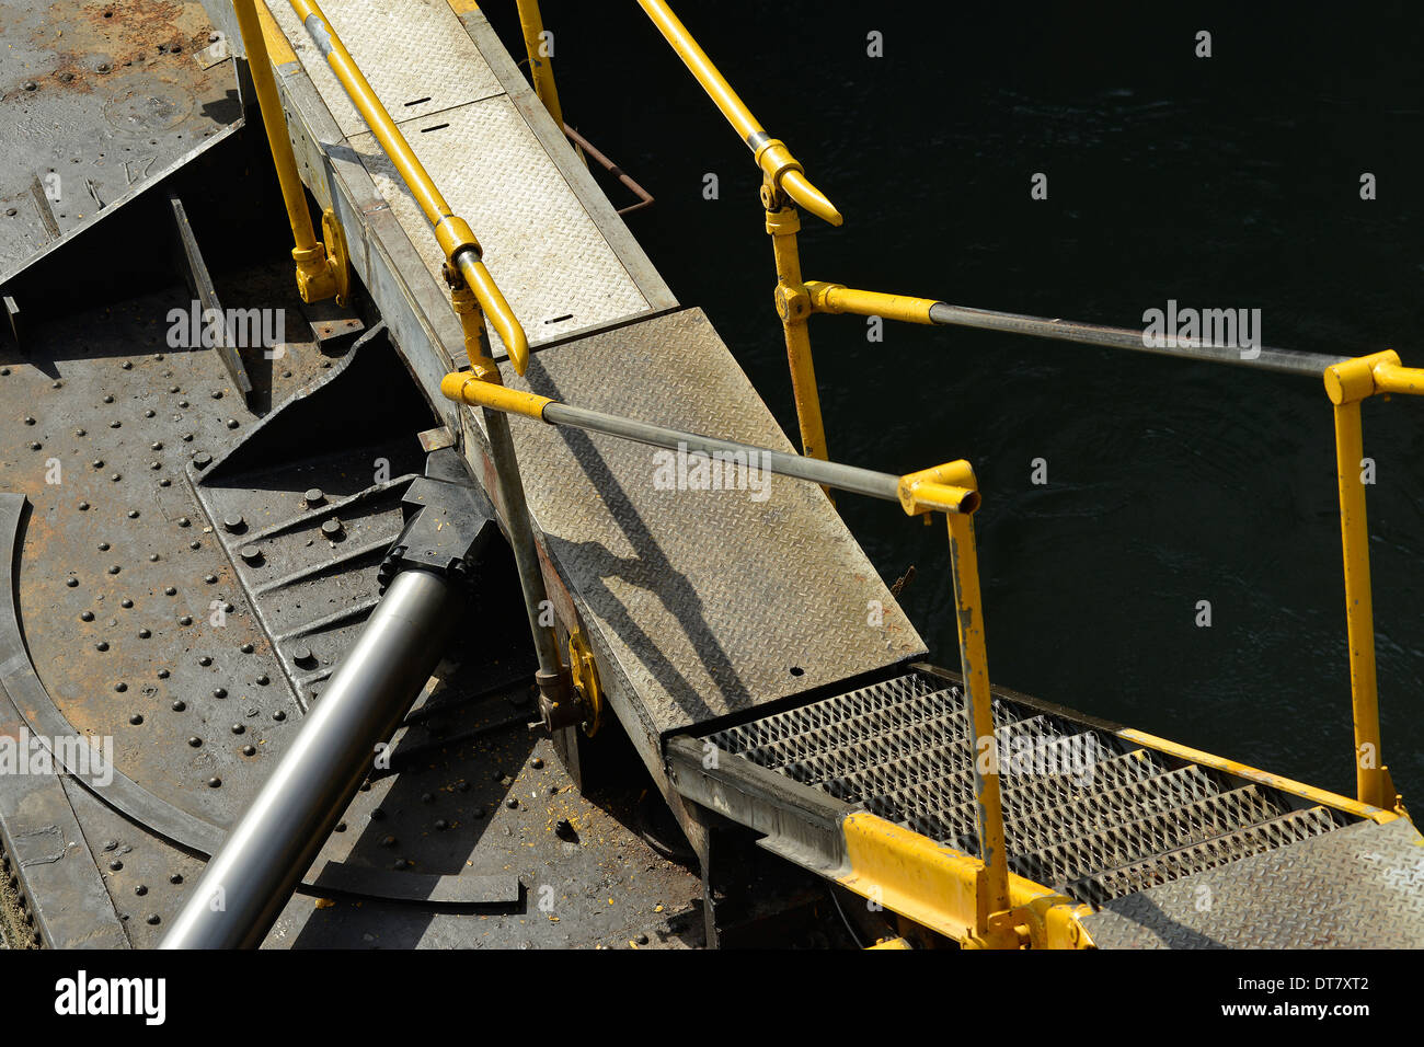
M262 281L244 285L251 293ZM6 731L48 725L112 739L108 786L70 775L31 779L77 819L75 858L88 862L103 906L117 913L110 946L157 944L202 853L300 722L305 702L261 610L281 620L283 608L268 607L276 591L292 604L286 610L302 603L318 617L345 601L359 624L379 556L345 556L347 540L362 544L362 519L343 499L369 486L379 454L392 457L397 477L419 472L419 434L430 424L387 343L353 355L349 340L330 339L283 343L275 360L249 353L259 403L278 403L259 417L235 396L215 353L165 343L168 312L187 296L174 285L50 318L31 330L26 353L0 346L0 491L31 504L16 557L20 658L7 671L28 671L33 660L33 674L14 689L20 708ZM302 336L295 321L288 329ZM372 333L382 333L379 325ZM360 353L376 365L367 379L349 372ZM353 440L333 415L336 397L322 396L340 395L350 377L392 402L393 383L404 382L407 403L420 410L392 419L394 429L380 429L373 415L366 440ZM340 536L320 531L332 514L300 504L312 486L342 519ZM283 531L288 510L299 526ZM242 514L244 526L229 531L225 514ZM248 521L251 530L238 533ZM244 563L241 540L273 521L292 538L273 554L281 575L255 571L245 587L234 567ZM236 543L231 556L219 534ZM437 671L269 944L685 944L672 927L695 937L699 880L641 839L645 785L615 783L591 801L530 734L533 661L513 567L504 571L497 584L510 605L483 608L494 621L481 642ZM293 584L281 584L292 575ZM279 584L263 590L272 581ZM328 637L326 667L345 644ZM24 822L0 803L0 825ZM493 890L497 883L513 886ZM101 942L95 899L37 885L6 910L19 944L31 933L26 912L67 912ZM595 887L597 906L568 900L582 886ZM557 890L555 907L538 906L548 893L541 887ZM417 924L429 933L414 933ZM51 943L74 944L75 936Z

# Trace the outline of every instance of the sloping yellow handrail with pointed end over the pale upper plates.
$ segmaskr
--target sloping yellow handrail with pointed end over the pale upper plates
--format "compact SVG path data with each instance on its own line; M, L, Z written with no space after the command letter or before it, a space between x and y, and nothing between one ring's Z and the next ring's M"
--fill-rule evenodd
M382 150L384 150L390 162L396 167L410 195L420 205L426 219L434 229L436 241L440 244L446 259L451 265L459 262L460 272L474 291L476 298L480 299L484 315L500 333L504 349L510 355L510 362L523 375L524 368L528 366L528 340L524 336L524 328L514 316L514 311L504 299L504 295L500 293L484 262L476 261L480 255L480 241L476 239L474 231L468 222L451 212L450 204L446 202L440 188L430 178L430 174L416 157L414 150L410 148L406 135L396 127L396 121L392 120L390 113L386 111L380 98L376 97L376 91L360 71L356 60L352 58L350 51L346 50L346 44L342 43L336 30L332 28L322 9L313 0L289 0L289 3L298 17L302 19L302 24L306 26L308 33L313 33L318 50L326 56L326 64L336 74L356 111L360 113L362 120L366 121L376 141L380 142ZM263 105L263 115L265 113L266 105ZM474 252L476 259L467 258L467 248ZM461 256L457 259L456 255Z

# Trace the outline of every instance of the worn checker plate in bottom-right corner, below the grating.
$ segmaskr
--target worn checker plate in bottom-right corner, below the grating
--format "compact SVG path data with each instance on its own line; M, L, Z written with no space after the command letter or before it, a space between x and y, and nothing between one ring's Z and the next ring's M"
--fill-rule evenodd
M1099 949L1418 949L1424 838L1361 822L1106 902Z

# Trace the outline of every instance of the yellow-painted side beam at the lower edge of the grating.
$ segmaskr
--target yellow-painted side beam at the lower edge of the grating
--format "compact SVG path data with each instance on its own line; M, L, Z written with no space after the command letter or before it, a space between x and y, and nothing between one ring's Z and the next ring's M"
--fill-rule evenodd
M893 822L857 811L842 822L849 870L836 882L956 942L1018 949L1088 949L1079 919L1092 910L1010 873L1004 919L984 934L984 863Z

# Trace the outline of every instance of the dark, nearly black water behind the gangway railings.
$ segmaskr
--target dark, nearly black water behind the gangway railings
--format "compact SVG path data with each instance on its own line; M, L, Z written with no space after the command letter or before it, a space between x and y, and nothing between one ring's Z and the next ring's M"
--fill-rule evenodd
M490 7L517 48L506 4ZM658 198L634 234L795 433L749 152L631 0L544 7L567 118ZM1259 308L1266 345L1424 365L1417 6L676 9L847 218L806 219L807 278L1129 328L1168 299ZM1047 201L1030 199L1040 171ZM1377 199L1360 199L1361 172ZM850 316L817 318L812 338L834 459L974 462L997 682L1353 792L1319 382L961 329L891 326L874 345ZM1410 795L1424 403L1371 402L1364 419L1384 756ZM906 608L956 664L943 527L849 496L842 511L887 581L916 566Z

